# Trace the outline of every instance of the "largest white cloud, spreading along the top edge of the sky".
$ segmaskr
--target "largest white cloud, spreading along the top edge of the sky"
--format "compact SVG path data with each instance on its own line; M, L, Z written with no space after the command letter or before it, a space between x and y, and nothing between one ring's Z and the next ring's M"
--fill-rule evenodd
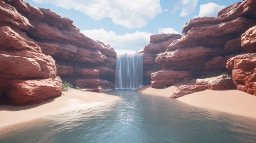
M142 28L148 20L163 12L160 0L106 1L106 0L32 0L40 4L74 9L88 15L93 20L111 18L115 25L129 29Z

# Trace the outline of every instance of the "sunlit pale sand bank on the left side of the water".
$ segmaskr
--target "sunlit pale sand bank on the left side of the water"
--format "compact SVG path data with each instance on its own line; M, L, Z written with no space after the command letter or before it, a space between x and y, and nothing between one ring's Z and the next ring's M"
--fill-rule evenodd
M105 93L85 92L71 89L63 92L63 96L38 105L15 107L0 106L0 127L54 115L67 110L75 110L77 106L93 107L99 104L120 100L120 97Z

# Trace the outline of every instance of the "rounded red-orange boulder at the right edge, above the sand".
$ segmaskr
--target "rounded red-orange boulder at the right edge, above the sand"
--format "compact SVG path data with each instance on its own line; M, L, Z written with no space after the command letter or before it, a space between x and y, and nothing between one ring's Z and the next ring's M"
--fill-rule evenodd
M244 54L228 60L227 69L232 73L238 90L256 96L256 54Z

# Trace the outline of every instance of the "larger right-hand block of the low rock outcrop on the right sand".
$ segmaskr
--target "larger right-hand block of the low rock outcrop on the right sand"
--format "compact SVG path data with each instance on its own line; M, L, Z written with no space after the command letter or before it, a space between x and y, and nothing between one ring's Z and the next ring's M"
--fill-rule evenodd
M236 89L230 75L221 75L207 79L197 79L195 84L206 86L207 89L211 90Z

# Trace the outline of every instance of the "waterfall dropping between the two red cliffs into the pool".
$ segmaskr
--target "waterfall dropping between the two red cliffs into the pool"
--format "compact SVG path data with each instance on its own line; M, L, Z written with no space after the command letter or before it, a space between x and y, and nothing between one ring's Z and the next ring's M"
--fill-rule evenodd
M142 54L116 55L115 89L138 89L143 87Z

